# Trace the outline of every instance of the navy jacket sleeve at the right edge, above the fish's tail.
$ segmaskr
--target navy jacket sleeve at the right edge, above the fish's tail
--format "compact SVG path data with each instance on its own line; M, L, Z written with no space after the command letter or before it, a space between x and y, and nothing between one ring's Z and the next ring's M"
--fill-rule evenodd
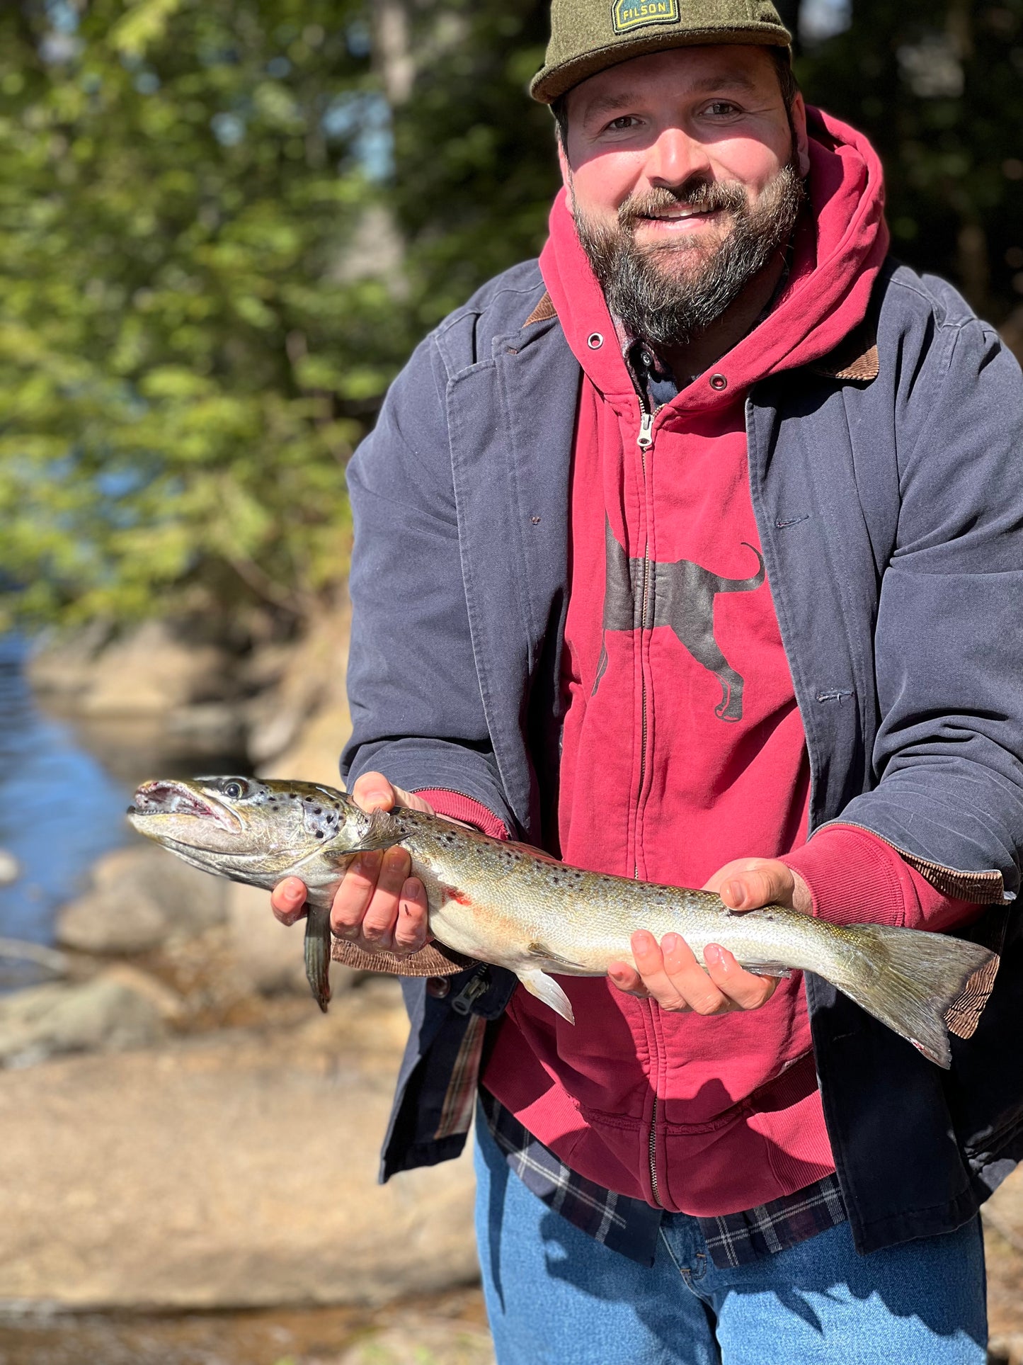
M936 329L896 411L900 511L881 577L876 788L842 812L917 865L1019 889L1023 850L1023 377L968 317ZM938 859L929 850L943 850ZM925 875L929 875L926 865Z

